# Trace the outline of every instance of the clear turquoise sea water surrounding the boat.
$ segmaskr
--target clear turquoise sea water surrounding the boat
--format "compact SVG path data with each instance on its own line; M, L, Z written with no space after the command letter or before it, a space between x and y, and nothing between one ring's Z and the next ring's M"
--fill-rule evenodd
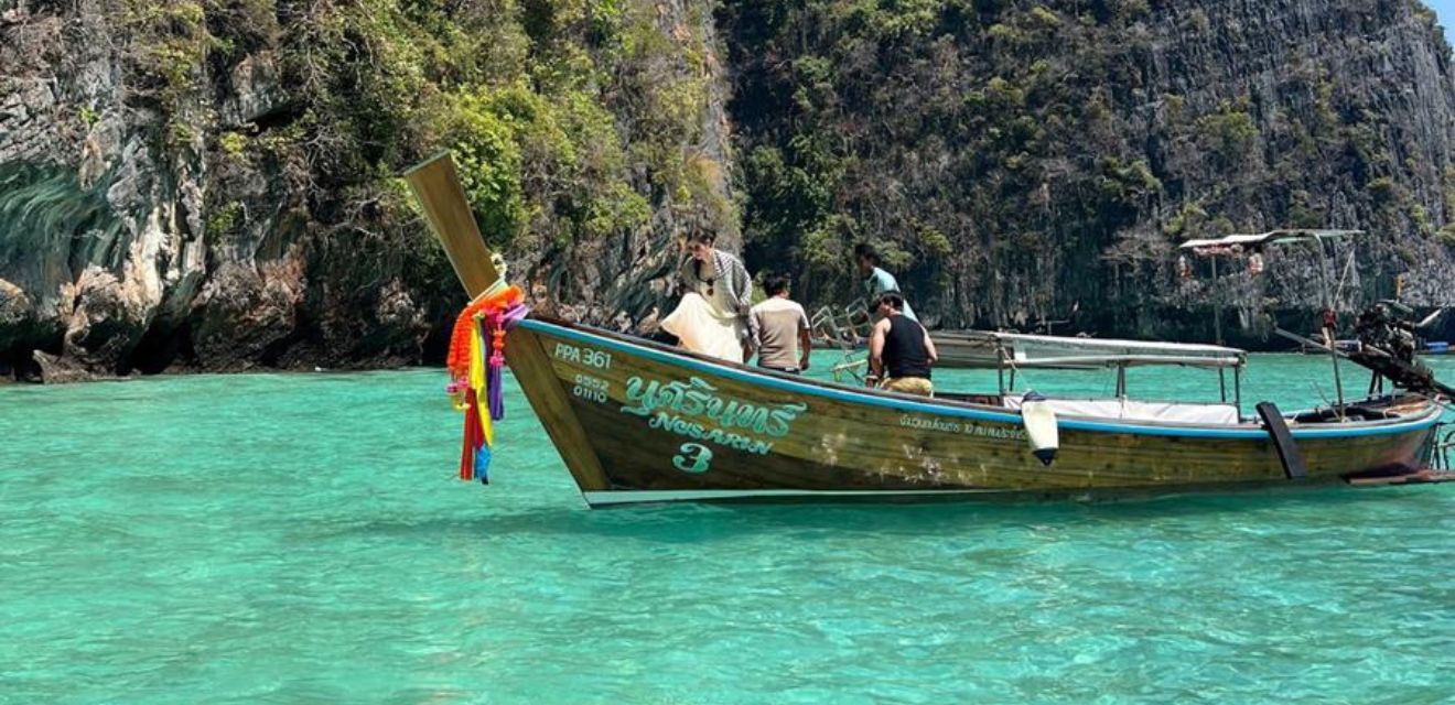
M514 387L454 480L442 384L0 388L0 702L1455 701L1455 486L589 512Z

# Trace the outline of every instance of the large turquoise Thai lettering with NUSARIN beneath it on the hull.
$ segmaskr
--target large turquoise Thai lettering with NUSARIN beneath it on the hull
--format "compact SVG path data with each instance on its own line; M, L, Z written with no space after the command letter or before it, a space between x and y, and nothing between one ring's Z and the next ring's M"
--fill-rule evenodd
M685 382L633 376L621 411L650 419L653 429L764 455L773 442L761 436L786 436L806 408L802 403L765 406L728 398L698 376Z

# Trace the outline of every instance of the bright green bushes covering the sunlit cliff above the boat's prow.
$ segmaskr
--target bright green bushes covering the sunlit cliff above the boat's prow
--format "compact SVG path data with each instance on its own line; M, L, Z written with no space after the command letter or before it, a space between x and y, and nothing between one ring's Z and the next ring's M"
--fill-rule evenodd
M129 68L173 144L282 164L313 218L378 234L397 262L439 262L397 174L453 148L496 247L562 251L647 227L656 208L730 222L701 185L701 38L636 0L127 0ZM242 125L186 105L266 52L288 99ZM208 86L211 83L211 86ZM230 214L214 235L246 224ZM441 270L442 278L448 278Z

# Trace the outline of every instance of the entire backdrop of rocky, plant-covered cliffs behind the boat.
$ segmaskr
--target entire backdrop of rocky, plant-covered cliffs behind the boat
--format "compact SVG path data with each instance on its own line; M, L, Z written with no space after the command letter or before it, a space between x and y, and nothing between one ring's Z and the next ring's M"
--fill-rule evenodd
M876 241L947 327L1211 339L1216 289L1256 342L1328 275L1174 247L1273 227L1371 233L1344 307L1455 283L1455 74L1408 0L0 0L0 65L22 378L436 359L458 285L394 176L442 145L535 302L623 329L687 227L810 304Z

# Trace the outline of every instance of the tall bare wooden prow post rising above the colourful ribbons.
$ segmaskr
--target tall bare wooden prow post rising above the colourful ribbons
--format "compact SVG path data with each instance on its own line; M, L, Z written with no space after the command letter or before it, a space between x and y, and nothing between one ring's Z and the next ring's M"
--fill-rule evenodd
M415 199L425 211L429 230L439 238L450 263L460 276L460 283L470 298L487 291L501 273L490 259L490 249L480 237L480 228L474 222L470 202L460 188L460 174L455 172L454 158L448 151L431 157L428 161L404 172Z

